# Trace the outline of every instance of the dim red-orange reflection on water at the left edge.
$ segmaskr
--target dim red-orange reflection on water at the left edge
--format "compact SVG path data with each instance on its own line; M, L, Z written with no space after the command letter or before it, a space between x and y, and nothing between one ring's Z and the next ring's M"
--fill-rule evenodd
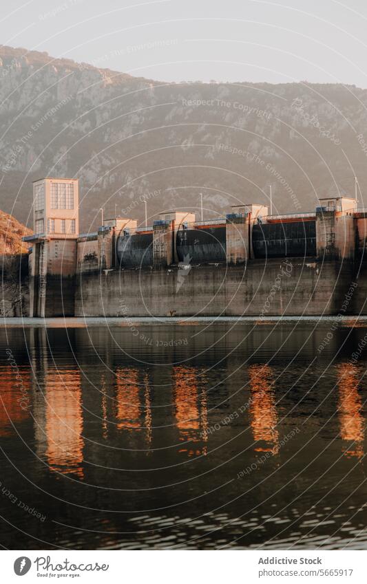
M10 436L12 424L24 422L30 415L30 372L7 365L0 373L0 436Z

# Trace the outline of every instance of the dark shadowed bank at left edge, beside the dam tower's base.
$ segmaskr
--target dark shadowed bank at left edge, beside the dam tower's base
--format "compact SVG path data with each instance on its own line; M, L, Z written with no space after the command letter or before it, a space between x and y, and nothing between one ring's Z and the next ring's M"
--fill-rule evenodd
M0 256L0 316L28 316L28 255Z

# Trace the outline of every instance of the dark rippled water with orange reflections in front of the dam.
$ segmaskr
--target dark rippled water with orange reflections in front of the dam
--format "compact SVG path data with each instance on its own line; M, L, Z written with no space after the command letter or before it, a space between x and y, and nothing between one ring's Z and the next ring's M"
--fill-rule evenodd
M4 548L367 548L366 322L55 324L0 329Z

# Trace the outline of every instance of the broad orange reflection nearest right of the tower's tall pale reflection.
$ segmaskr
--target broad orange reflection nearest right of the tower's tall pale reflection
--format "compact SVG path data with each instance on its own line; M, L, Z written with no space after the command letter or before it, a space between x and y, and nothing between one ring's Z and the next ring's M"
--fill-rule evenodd
M116 418L119 430L140 429L140 396L136 369L116 369Z

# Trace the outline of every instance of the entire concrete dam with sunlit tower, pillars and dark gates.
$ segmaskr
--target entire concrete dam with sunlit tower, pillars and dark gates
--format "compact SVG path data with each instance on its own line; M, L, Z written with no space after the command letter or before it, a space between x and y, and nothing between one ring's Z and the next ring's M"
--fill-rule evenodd
M232 206L196 221L169 210L78 232L78 180L34 182L25 316L315 316L367 314L367 209L319 197L309 213Z

